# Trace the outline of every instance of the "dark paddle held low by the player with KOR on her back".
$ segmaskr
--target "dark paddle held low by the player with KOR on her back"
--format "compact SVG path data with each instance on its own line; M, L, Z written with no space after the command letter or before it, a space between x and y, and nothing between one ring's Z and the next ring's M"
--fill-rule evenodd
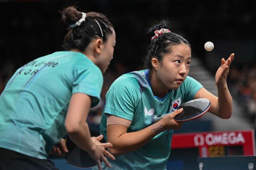
M90 130L90 134L91 136L100 135L100 133L93 130ZM100 142L105 143L106 141L103 138ZM68 153L65 154L65 159L68 164L78 168L91 168L97 165L96 161L92 159L86 151L76 146L69 137L66 138L66 146Z

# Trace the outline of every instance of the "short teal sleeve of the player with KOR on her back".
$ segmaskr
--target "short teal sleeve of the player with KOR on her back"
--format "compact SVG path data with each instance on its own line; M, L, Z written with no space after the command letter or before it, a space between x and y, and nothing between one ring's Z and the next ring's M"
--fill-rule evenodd
M91 97L91 107L98 105L103 85L103 76L100 69L85 59L78 59L72 71L72 94L84 93Z

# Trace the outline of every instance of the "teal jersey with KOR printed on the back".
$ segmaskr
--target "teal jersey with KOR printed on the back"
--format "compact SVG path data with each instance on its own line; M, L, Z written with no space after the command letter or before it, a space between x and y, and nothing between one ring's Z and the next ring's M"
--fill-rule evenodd
M103 76L82 53L59 51L19 68L0 95L0 148L46 159L66 134L74 93L100 100Z

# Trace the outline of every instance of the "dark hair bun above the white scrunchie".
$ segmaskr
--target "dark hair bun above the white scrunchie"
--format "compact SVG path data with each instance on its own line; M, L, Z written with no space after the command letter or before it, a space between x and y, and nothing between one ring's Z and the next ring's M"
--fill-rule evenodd
M71 25L82 17L82 13L77 11L74 6L70 6L62 11L62 20L65 24Z

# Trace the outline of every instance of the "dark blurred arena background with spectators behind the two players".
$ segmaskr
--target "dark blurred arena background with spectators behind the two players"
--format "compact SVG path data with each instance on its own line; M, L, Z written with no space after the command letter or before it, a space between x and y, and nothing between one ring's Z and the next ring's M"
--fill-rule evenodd
M228 85L235 110L239 110L236 114L238 122L221 122L222 127L218 129L218 126L214 127L213 119L198 119L201 123L194 123L193 128L189 123L185 124L180 132L254 129L254 0L0 0L0 93L16 69L37 57L62 50L67 27L60 22L58 10L69 5L77 5L84 12L106 14L116 30L114 59L104 75L102 102L88 117L92 128L98 129L104 96L111 83L123 73L143 68L142 58L150 43L145 29L168 18L172 21L170 30L190 42L192 64L196 61L204 67L209 79L214 79L221 58L235 53ZM204 49L204 43L208 41L214 43L213 51Z

